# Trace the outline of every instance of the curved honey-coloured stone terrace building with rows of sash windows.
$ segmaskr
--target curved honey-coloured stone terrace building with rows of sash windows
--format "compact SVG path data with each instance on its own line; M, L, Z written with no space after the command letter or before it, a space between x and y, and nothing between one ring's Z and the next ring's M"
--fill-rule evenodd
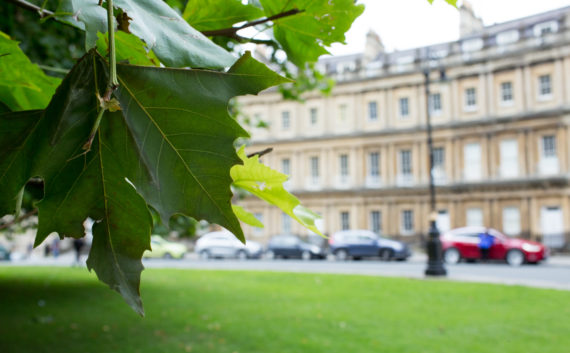
M568 246L570 7L489 27L468 18L471 31L473 12L461 16L455 42L386 53L369 33L362 55L322 60L337 80L329 96L240 100L269 124L252 131L249 151L273 147L262 161L290 175L287 188L322 215L325 233L427 234L429 109L440 230L485 225ZM262 201L241 203L266 225L245 226L250 238L308 232Z

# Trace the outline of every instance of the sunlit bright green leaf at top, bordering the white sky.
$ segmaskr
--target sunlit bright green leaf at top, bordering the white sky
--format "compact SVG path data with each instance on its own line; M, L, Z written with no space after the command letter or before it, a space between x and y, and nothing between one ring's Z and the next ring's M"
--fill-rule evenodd
M292 9L303 12L274 21L273 35L297 66L328 54L325 47L344 43L344 33L362 14L354 0L260 0L267 16Z

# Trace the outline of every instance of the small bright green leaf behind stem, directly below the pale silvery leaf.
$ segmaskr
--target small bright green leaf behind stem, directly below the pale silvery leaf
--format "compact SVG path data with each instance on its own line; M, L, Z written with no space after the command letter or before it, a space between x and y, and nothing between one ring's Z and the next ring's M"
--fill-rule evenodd
M101 54L108 55L109 36L98 34L97 50ZM117 62L127 62L140 66L160 66L160 61L151 51L145 49L145 44L138 37L125 32L115 33L115 55Z

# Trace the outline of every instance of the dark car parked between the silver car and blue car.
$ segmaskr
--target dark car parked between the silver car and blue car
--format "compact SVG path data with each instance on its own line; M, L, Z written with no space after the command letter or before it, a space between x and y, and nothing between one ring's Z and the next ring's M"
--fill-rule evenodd
M269 240L265 257L298 258L303 260L323 259L326 253L322 247L307 243L296 235L277 235Z

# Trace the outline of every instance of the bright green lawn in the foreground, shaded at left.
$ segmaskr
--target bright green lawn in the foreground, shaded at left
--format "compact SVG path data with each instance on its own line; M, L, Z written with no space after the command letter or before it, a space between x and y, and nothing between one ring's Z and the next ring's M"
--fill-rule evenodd
M0 352L541 352L570 292L267 272L143 273L146 318L85 269L0 267Z

